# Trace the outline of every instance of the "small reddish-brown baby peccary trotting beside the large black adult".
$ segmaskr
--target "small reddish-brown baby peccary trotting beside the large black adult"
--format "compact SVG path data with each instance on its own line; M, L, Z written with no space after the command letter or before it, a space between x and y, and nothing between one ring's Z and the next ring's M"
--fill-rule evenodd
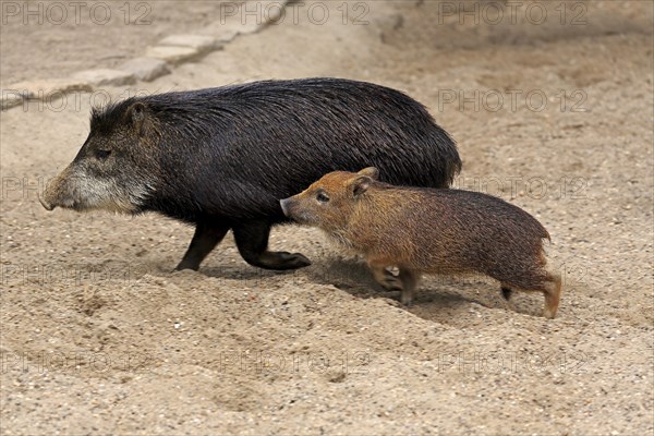
M491 195L401 187L376 181L378 171L336 171L280 201L296 222L315 226L365 256L377 282L410 304L422 272L481 272L512 290L545 294L554 318L560 278L545 269L547 230L526 211ZM397 267L395 277L389 267Z

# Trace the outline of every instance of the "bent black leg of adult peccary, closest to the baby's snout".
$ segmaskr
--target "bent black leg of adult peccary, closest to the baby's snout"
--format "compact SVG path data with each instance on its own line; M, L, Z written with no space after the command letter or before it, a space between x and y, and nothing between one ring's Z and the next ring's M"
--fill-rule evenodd
M250 265L265 269L296 269L311 265L300 253L269 252L270 223L249 221L233 228L239 253Z

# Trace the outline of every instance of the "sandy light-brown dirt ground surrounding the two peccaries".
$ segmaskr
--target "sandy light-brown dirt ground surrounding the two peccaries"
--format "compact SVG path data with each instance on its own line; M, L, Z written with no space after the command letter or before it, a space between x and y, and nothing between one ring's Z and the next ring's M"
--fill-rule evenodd
M558 317L536 294L507 310L480 277L425 277L402 307L290 226L271 246L311 267L250 267L228 237L198 272L171 272L191 228L39 205L88 133L93 98L73 95L0 114L1 433L654 434L653 3L523 2L514 22L508 3L492 3L499 21L488 2L318 3L135 88L329 75L409 93L457 140L458 187L549 230ZM137 55L215 12L152 4L167 19L147 32L4 25L2 83Z

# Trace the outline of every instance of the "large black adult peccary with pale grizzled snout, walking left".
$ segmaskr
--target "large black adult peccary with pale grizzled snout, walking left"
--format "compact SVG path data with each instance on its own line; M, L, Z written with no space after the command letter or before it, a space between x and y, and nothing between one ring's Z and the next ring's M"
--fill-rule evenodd
M310 261L267 251L270 227L287 220L279 198L368 165L391 183L448 186L461 160L425 108L398 90L338 78L254 82L95 109L86 142L41 203L195 223L178 269L197 269L229 229L247 263L293 269Z

